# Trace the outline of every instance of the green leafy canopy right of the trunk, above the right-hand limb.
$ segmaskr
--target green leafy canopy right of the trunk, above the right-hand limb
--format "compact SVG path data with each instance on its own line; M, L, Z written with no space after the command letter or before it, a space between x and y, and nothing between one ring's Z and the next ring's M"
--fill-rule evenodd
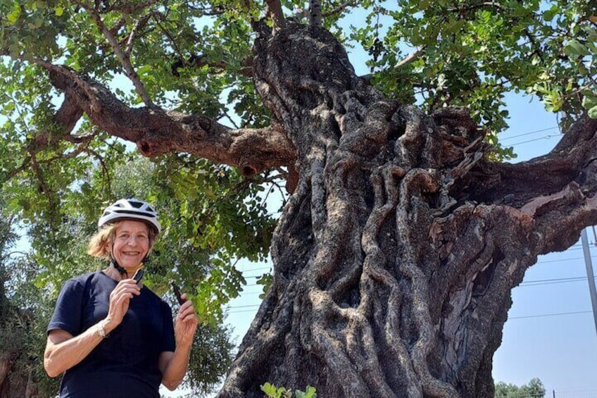
M498 144L511 91L539 97L563 130L583 109L597 114L595 15L591 1L401 0L372 6L370 23L351 37L372 53L368 65L386 94L429 111L468 106ZM411 52L412 62L394 67Z

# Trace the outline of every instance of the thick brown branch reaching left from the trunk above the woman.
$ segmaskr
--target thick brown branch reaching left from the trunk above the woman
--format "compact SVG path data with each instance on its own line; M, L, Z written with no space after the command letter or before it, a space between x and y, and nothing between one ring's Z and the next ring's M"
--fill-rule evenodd
M108 89L72 70L63 66L49 70L54 87L73 99L95 125L137 143L145 156L189 152L238 167L246 176L294 162L294 147L277 128L230 129L206 116L129 108Z

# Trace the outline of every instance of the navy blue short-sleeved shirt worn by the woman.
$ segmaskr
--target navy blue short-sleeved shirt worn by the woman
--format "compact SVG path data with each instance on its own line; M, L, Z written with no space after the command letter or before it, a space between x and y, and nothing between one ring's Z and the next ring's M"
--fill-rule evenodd
M103 272L67 280L47 331L80 335L108 315L110 293L118 282ZM65 371L61 398L156 397L162 374L158 358L174 352L170 306L147 287L130 300L122 323L73 368Z

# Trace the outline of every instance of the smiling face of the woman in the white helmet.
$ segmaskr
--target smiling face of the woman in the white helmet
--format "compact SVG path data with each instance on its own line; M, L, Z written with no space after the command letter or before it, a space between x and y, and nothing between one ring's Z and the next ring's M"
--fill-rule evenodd
M142 221L124 220L116 227L112 256L122 268L134 269L149 251L149 227Z

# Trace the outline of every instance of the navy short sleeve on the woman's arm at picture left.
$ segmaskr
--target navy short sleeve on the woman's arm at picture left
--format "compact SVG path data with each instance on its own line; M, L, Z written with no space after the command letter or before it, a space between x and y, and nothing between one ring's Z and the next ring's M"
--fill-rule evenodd
M67 280L58 295L56 308L46 332L65 330L71 335L82 332L82 306L84 285L75 280Z

